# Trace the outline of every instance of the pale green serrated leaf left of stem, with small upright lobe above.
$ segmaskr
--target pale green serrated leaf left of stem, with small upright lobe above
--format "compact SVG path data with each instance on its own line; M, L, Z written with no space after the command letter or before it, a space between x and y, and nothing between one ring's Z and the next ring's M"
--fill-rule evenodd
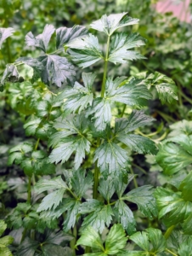
M76 82L72 89L67 88L61 93L60 96L67 99L63 107L65 112L76 113L76 110L78 110L78 113L81 113L83 109L88 108L88 105L92 105L92 86L95 78L96 75L93 73L82 73L85 87Z

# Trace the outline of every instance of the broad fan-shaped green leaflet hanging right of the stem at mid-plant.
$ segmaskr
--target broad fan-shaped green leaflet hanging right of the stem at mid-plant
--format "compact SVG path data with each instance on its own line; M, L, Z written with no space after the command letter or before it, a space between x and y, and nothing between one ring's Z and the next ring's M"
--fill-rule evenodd
M93 161L98 160L100 172L118 173L127 167L127 151L116 143L104 142L94 152Z

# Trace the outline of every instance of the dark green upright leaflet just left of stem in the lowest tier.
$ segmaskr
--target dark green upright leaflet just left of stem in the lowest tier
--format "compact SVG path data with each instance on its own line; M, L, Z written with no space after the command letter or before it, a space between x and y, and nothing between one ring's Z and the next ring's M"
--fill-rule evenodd
M86 172L83 170L73 172L73 176L71 177L71 186L78 197L82 197L82 195L84 195L92 185L93 174L91 172L88 172L87 176Z

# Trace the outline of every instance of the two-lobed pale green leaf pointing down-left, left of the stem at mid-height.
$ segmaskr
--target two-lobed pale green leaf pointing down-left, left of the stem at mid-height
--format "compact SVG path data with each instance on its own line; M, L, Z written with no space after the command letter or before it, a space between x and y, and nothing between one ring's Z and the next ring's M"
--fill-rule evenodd
M85 152L90 151L91 143L87 140L86 137L76 136L76 137L65 137L61 142L52 150L52 153L49 155L49 160L51 163L65 163L69 160L71 154L76 152L75 156L75 169L78 169L82 164L82 160L85 158Z

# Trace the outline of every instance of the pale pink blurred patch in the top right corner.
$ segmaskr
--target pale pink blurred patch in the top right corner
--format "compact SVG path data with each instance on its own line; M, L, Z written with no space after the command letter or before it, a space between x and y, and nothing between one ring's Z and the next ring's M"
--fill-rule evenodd
M172 12L172 15L178 17L179 20L190 22L189 3L190 0L184 0L181 3L177 3L176 0L159 0L156 10L163 14Z

